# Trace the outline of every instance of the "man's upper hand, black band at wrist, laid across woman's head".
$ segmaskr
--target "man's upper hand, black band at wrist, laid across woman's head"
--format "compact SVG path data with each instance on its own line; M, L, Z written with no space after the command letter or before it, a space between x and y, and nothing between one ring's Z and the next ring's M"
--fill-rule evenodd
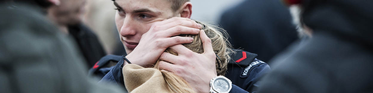
M177 44L191 43L193 38L176 36L180 34L198 34L201 24L194 20L173 17L154 23L150 30L144 33L137 47L126 58L142 67L153 65L168 47ZM174 37L171 37L174 36ZM127 62L125 62L127 64Z

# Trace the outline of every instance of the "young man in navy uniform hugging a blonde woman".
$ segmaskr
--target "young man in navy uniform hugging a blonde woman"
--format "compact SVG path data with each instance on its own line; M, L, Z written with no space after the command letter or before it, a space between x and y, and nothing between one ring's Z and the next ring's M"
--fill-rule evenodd
M192 14L192 3L189 0L114 0L114 5L117 7L116 26L128 54L125 58L142 67L154 64L158 58L172 62L161 61L160 69L181 76L198 93L210 92L210 80L217 77L214 68L216 56L212 51L211 40L202 39L205 52L198 54L179 45L192 42L192 38L176 36L200 32L201 25L189 19ZM172 48L179 55L163 53L166 48ZM252 89L258 86L258 77L270 70L256 56L245 51L232 55L233 60L229 62L226 74L233 82L233 85L228 86L232 88L231 93L253 92ZM106 74L107 71L100 69L100 65L102 67L108 60L119 62ZM123 84L121 70L126 64L128 62L121 57L108 56L97 62L90 73L101 71L106 75L100 82Z

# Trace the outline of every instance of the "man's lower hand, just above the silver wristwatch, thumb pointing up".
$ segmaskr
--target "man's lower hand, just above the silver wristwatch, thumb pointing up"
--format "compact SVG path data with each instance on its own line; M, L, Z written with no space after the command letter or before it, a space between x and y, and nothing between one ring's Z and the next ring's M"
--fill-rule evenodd
M216 55L211 45L211 39L201 30L201 41L204 52L198 54L184 47L175 45L170 47L178 55L163 52L160 56L159 68L175 73L184 78L197 93L210 92L210 80L217 76ZM167 61L167 62L165 62ZM171 62L171 63L168 63Z

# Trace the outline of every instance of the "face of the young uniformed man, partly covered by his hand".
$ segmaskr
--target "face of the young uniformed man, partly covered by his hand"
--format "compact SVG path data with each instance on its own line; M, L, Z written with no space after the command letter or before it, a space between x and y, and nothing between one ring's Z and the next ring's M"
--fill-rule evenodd
M155 22L176 16L166 0L115 0L115 23L127 54Z

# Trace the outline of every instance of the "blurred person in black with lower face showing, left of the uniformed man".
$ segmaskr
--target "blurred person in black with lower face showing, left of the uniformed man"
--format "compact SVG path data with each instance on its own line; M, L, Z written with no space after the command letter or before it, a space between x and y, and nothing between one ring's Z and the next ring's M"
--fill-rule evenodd
M51 6L48 9L48 17L60 31L73 36L79 46L79 52L87 61L87 66L93 67L106 52L95 33L82 24L85 4L86 0L61 0L59 6Z

